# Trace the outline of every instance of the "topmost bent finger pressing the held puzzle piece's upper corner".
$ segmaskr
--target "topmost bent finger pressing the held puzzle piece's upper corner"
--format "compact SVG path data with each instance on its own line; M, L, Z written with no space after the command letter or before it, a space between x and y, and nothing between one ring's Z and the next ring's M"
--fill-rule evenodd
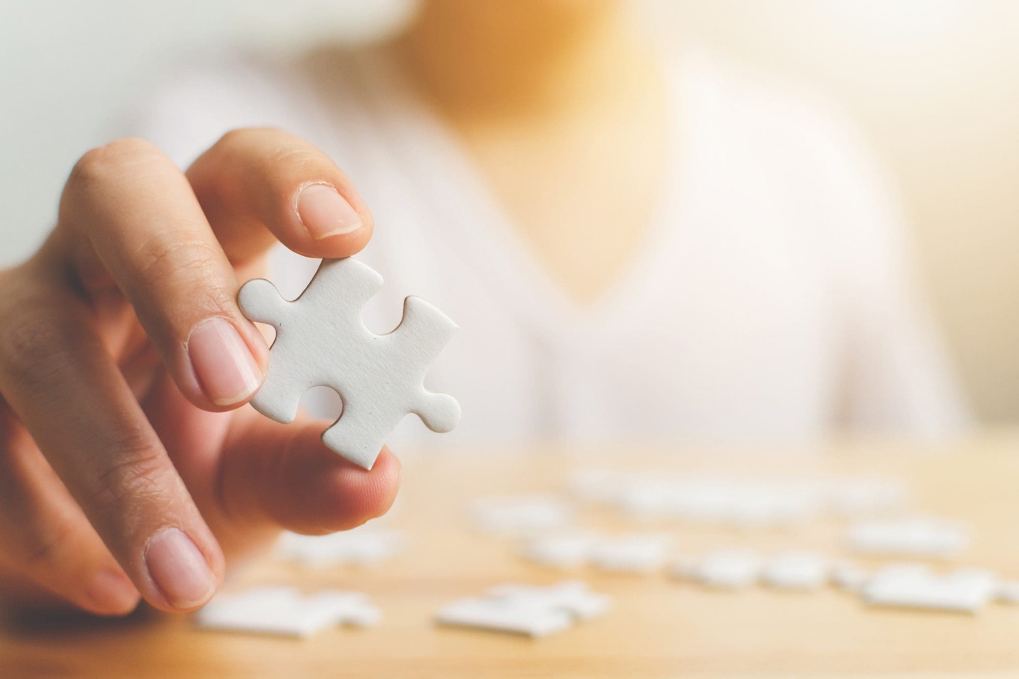
M226 134L187 178L234 262L277 240L308 257L348 257L371 238L372 215L350 178L313 145L279 129Z

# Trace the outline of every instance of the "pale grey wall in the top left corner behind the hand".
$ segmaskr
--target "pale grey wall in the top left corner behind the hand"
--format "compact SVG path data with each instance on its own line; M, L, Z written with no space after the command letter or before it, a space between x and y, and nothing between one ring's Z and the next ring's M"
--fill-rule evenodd
M175 57L386 31L410 0L0 0L0 267L52 225L74 161Z

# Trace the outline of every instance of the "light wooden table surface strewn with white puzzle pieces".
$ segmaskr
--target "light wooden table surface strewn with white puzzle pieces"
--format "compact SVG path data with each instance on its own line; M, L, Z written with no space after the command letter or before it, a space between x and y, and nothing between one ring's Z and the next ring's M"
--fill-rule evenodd
M368 593L385 613L368 630L327 630L308 640L201 632L185 617L141 611L121 621L9 622L0 636L0 677L1014 677L1019 676L1019 607L991 605L975 616L868 610L825 588L713 592L662 574L583 570L564 576L527 564L511 541L475 532L465 512L474 498L559 490L580 466L710 469L799 475L879 472L908 481L913 505L973 527L960 563L1019 577L1019 436L1000 433L941 451L833 446L771 456L683 450L570 455L420 455L405 461L391 525L412 544L370 570L307 570L266 560L231 587L297 582ZM584 509L583 524L634 528L605 510ZM654 525L655 529L663 527ZM665 525L677 551L700 554L746 544L845 555L837 519L786 530L733 531ZM543 639L440 628L431 619L454 598L500 582L550 583L581 577L615 597L603 618Z

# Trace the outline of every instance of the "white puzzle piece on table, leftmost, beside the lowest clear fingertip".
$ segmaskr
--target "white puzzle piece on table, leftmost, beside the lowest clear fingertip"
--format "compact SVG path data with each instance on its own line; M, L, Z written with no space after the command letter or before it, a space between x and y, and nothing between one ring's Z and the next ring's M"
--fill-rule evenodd
M375 625L381 612L356 592L302 594L294 587L254 587L218 594L195 614L195 620L205 629L306 637L343 623Z

